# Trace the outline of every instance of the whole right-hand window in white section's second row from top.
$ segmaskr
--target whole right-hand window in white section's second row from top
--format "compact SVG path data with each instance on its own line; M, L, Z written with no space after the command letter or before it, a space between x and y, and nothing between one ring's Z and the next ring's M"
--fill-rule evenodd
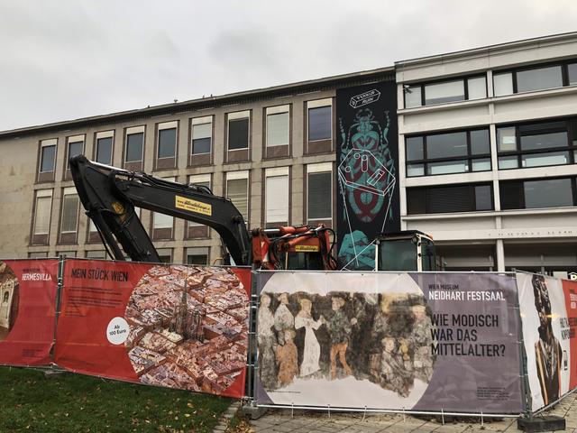
M572 164L576 143L577 119L500 126L499 170Z

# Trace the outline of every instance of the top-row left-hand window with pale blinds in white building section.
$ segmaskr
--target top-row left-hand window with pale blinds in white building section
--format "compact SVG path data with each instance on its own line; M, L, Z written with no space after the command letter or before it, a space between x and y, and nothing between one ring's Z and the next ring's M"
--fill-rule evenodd
M404 85L403 90L405 108L433 106L485 98L487 97L487 80L484 75L480 75L435 83Z

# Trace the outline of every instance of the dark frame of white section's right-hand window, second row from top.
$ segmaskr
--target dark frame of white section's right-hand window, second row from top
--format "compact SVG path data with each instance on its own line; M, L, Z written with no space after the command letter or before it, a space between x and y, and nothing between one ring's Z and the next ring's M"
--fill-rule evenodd
M540 134L554 134L554 132L566 132L567 133L567 146L557 146L557 147L547 147L543 149L533 149L530 151L523 151L521 150L521 137L529 135L529 134L521 134L520 128L522 126L530 126L532 124L545 124L545 123L559 123L563 122L565 124L564 130L558 128L550 128L544 129L543 133ZM505 128L515 128L515 151L499 151L499 129ZM577 144L573 143L573 141L577 142L577 117L563 117L563 118L553 118L553 119L539 119L534 120L531 122L521 122L521 123L514 123L514 124L497 124L495 125L495 136L497 137L496 149L497 149L497 170L520 170L520 169L535 169L540 167L559 167L559 166L569 166L575 164L577 159L575 158L575 152L577 152ZM572 137L575 137L573 140ZM551 153L551 152L568 152L569 153L569 160L566 164L550 164L550 165L537 165L532 167L523 167L523 156L525 155L536 155L539 153ZM500 168L499 167L499 160L501 157L513 157L517 158L517 167L510 167L510 168Z

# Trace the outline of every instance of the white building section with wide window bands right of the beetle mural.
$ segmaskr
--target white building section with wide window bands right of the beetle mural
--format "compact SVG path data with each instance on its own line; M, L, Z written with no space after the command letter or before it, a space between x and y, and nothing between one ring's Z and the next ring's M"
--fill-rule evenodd
M577 33L396 73L402 227L447 269L577 271Z

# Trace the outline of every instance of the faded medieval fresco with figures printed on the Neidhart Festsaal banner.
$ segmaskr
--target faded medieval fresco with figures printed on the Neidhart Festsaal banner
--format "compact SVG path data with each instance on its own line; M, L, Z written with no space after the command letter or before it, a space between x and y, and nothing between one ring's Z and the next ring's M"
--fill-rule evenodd
M406 398L433 374L431 310L419 293L262 292L259 374L266 392L296 381L366 381Z

